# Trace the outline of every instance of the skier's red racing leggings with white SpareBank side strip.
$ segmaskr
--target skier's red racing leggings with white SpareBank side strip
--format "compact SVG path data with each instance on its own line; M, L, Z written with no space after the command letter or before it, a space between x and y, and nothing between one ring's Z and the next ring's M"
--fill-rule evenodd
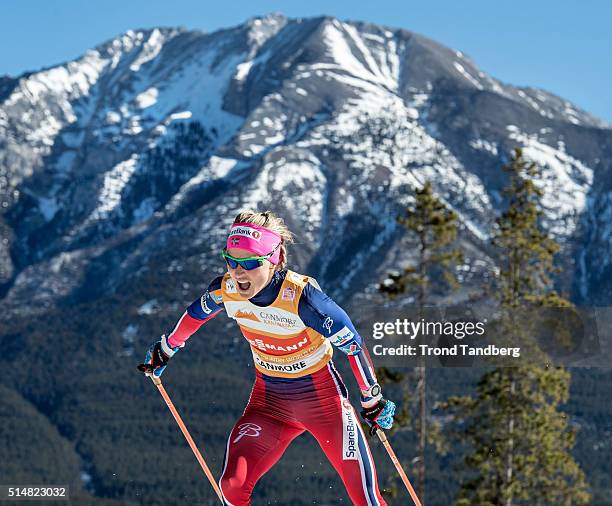
M255 484L289 443L310 432L358 506L386 506L374 460L340 375L330 362L296 379L257 371L251 397L227 441L219 485L228 506L248 506Z

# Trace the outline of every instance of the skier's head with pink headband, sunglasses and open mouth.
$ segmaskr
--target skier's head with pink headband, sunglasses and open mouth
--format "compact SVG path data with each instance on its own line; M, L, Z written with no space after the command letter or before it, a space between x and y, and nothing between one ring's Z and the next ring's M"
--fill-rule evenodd
M287 244L293 234L282 218L270 211L239 213L230 227L225 248L227 270L236 281L238 293L249 299L287 265ZM256 258L237 262L239 259Z

